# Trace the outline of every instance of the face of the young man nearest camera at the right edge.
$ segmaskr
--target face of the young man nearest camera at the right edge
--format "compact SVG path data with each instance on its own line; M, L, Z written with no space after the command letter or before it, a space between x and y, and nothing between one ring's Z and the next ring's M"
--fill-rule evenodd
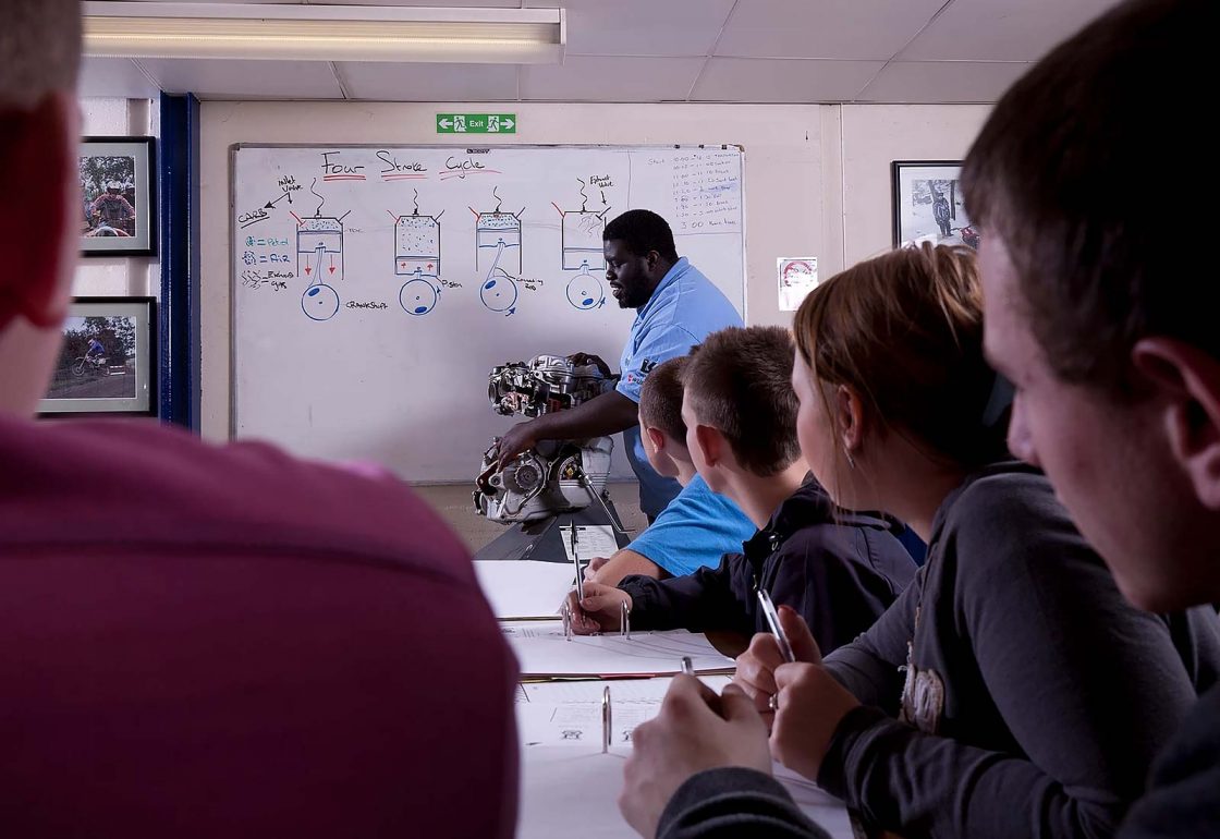
M1183 541L1190 504L1155 405L1058 378L1030 332L1019 278L998 237L983 238L980 270L987 355L1016 389L1009 449L1047 473L1128 600L1157 611L1182 605L1183 585L1193 587L1186 566L1198 549Z

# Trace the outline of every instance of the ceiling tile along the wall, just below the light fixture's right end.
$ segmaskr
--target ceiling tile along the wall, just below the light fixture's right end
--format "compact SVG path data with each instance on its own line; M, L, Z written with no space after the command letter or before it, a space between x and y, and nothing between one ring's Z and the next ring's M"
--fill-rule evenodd
M521 67L525 100L659 102L684 100L704 59L569 56Z

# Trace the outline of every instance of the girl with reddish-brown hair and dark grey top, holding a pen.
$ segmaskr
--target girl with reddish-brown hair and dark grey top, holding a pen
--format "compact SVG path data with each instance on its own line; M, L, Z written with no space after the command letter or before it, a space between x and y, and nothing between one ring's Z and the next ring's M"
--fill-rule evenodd
M839 504L909 521L928 559L825 665L788 610L782 624L808 663L782 665L773 638L754 638L737 682L756 707L775 698L772 754L867 827L908 838L1113 833L1152 756L1216 678L1216 616L1132 609L1047 479L1006 460L966 249L903 249L832 277L802 305L795 334L798 429L814 473ZM693 724L689 709L706 704L687 680L672 693ZM727 701L741 706L736 691ZM755 724L737 713L731 741ZM705 737L730 726L706 722ZM777 809L789 826L804 821L761 772L688 780L702 767L683 761L675 777L660 756L669 737L645 730L628 765L637 822L653 812L638 784L654 801L681 784L662 835L710 830L710 801L758 827L750 835L799 835L773 827Z

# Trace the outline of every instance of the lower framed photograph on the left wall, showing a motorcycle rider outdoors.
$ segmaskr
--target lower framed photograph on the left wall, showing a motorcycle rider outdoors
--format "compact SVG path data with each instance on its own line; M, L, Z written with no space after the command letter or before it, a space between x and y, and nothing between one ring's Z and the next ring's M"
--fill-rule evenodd
M39 416L156 411L156 301L77 298Z

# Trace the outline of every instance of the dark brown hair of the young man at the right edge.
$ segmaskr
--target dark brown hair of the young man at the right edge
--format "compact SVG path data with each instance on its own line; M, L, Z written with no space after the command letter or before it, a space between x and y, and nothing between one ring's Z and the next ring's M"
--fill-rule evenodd
M1193 212L1214 156L1198 74L1214 33L1210 0L1115 7L1004 94L966 157L970 217L1008 244L1032 333L1064 380L1121 391L1131 346L1152 334L1220 356L1198 255L1207 222ZM1138 161L1155 174L1133 173ZM1199 238L1175 241L1179 223Z

